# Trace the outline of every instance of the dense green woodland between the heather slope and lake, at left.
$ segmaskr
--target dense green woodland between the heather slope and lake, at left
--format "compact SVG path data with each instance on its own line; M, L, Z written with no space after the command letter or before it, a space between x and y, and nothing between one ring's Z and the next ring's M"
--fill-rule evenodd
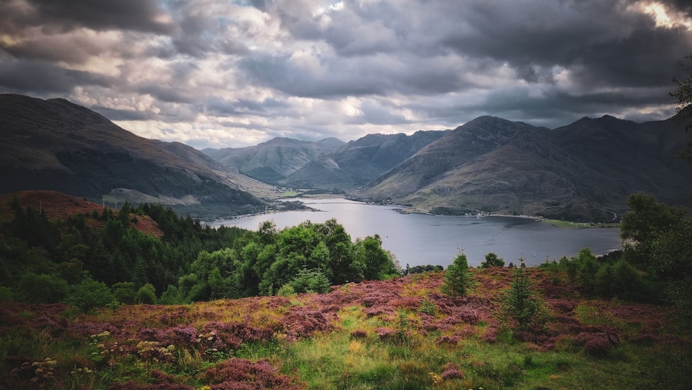
M254 232L203 227L150 204L66 220L48 220L16 199L10 210L14 218L0 222L0 286L10 292L4 296L30 303L89 301L84 283L102 283L109 292L108 299L79 303L90 310L113 299L188 303L276 294L284 286L324 292L331 284L401 274L379 236L354 242L336 220L282 230L267 221ZM161 238L135 229L145 215L158 223Z

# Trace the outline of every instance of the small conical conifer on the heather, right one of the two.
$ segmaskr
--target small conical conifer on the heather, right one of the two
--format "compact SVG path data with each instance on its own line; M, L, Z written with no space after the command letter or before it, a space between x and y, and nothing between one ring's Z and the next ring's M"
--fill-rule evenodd
M524 265L523 256L519 259ZM516 323L520 330L531 325L540 325L544 319L543 303L531 288L531 281L525 267L516 267L509 290L502 296L500 316Z

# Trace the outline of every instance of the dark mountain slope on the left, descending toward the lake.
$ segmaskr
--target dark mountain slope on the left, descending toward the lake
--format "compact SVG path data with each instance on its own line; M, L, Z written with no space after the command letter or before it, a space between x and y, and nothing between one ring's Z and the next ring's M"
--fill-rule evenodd
M182 143L152 141L67 100L0 95L0 193L58 190L178 208L262 207L266 184Z

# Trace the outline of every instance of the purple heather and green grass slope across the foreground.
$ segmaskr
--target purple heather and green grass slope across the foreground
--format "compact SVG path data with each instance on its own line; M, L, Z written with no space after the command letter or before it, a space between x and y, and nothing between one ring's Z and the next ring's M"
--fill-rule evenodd
M327 294L194 305L0 303L0 387L110 389L685 389L689 333L669 310L590 299L564 274L526 269L550 315L542 330L498 320L513 270L348 283Z

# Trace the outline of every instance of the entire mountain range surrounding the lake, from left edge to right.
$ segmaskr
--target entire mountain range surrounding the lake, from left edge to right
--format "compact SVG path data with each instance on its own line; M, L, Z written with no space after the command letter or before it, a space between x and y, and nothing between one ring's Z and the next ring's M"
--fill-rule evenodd
M344 190L437 214L618 220L631 193L692 204L675 118L582 118L556 129L481 116L454 130L206 149L144 139L67 100L0 95L0 193L59 190L182 211L246 213L275 186Z

